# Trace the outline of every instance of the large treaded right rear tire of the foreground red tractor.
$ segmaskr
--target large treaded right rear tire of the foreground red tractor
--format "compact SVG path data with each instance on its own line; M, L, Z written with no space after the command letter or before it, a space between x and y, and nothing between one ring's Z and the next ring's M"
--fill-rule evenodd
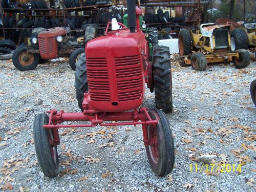
M158 45L154 48L153 74L156 107L168 113L173 110L172 68L169 48Z

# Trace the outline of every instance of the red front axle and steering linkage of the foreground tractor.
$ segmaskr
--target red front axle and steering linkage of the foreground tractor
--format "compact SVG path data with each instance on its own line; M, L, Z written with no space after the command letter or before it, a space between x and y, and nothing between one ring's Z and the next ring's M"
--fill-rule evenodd
M59 128L72 128L72 127L93 127L93 126L118 126L118 125L142 125L143 142L145 146L149 145L147 134L147 125L152 124L155 126L158 120L152 120L147 112L147 108L135 109L132 112L118 112L118 113L65 113L63 110L57 112L56 110L47 111L50 113L48 124L44 124L45 129L52 129L57 131ZM65 121L91 121L88 124L60 124ZM125 121L125 122L111 122L103 123L103 121ZM59 144L58 134L54 134L55 143Z

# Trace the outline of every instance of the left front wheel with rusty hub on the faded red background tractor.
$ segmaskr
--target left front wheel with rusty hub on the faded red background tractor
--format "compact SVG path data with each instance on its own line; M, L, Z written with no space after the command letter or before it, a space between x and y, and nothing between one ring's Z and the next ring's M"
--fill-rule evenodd
M34 70L39 61L39 55L27 51L27 46L18 47L13 55L13 65L20 71Z

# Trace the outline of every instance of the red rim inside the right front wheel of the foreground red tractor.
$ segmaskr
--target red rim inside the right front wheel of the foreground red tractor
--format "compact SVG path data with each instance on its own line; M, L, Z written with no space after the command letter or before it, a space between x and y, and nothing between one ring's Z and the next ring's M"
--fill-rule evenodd
M149 151L151 159L155 164L159 161L159 150L158 150L158 140L157 140L157 127L150 126L148 129L148 139L150 139Z

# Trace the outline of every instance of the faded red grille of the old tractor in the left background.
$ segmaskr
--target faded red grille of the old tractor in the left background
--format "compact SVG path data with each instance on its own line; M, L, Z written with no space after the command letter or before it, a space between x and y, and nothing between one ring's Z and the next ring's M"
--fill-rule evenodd
M56 41L54 37L51 38L38 38L39 41L39 49L40 49L40 54L52 54L56 52L54 50L54 42Z

